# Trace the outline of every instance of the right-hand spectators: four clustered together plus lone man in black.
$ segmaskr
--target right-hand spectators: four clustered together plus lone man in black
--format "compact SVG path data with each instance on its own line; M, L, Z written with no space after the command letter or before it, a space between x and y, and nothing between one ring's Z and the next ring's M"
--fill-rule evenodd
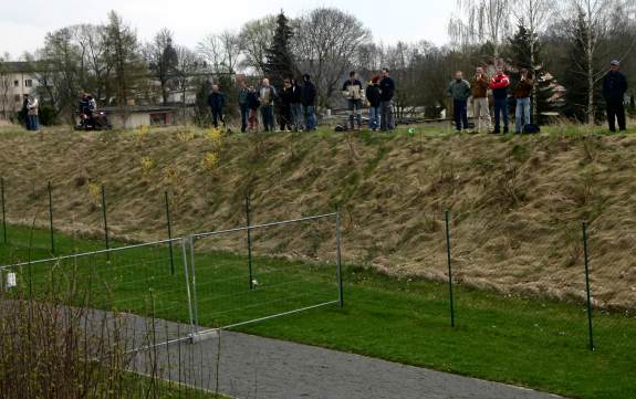
M510 90L510 77L502 67L498 67L492 77L487 76L483 67L477 67L472 82L463 78L463 73L457 71L455 80L448 86L448 95L452 98L455 127L458 132L469 129L468 124L468 101L472 98L472 111L476 119L475 132L480 133L487 129L493 134L500 134L501 125L503 133L509 133L509 111L508 97ZM519 72L519 83L512 90L517 108L514 112L514 133L536 133L539 128L531 124L531 102L535 82L529 71ZM492 92L494 111L494 129L491 130L490 106L488 92ZM609 130L625 130L625 93L627 92L627 78L621 72L621 63L612 61L609 72L603 78L603 96L607 111L607 122Z

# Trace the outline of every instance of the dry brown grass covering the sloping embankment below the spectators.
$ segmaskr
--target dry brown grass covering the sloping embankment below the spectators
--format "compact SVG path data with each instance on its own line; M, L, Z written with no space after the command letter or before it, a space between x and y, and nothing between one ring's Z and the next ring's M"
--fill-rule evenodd
M243 224L248 191L254 222L340 204L347 262L432 279L445 276L442 212L449 208L461 282L559 298L583 295L580 222L586 219L595 300L634 307L636 136L580 130L512 139L236 135L221 150L205 132L188 128L143 137L56 128L43 141L0 130L0 169L12 221L30 222L39 212L44 223L51 179L58 224L97 234L101 213L90 187L105 183L113 230L139 240L166 235L166 189L179 234ZM213 170L201 162L210 151L218 153ZM333 255L301 231L278 234L288 253Z

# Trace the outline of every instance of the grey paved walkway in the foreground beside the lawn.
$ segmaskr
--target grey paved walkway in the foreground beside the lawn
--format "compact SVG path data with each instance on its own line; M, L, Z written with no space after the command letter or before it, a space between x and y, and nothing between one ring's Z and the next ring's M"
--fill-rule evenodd
M143 325L139 319L137 326ZM160 323L176 336L187 326ZM163 335L165 337L165 335ZM220 353L219 353L220 350ZM548 399L553 395L307 345L223 332L139 354L148 372L158 359L164 378L236 398L303 399ZM218 381L217 381L218 379Z

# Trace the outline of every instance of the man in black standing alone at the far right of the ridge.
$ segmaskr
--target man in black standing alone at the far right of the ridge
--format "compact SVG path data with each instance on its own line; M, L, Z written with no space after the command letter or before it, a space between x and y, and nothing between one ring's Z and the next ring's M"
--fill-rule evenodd
M609 72L603 77L603 96L607 104L609 132L616 132L616 119L618 119L618 129L621 132L627 129L624 103L626 92L627 78L623 72L621 72L621 62L614 60L609 63Z

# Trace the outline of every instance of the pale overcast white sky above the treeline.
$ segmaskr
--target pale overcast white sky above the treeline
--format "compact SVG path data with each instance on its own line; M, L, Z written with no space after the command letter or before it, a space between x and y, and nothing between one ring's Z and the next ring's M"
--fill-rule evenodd
M455 11L451 0L2 0L0 54L12 59L41 48L48 32L79 23L106 21L110 10L149 41L161 28L173 31L175 42L195 48L206 34L238 31L250 20L278 13L298 17L316 7L336 7L356 15L372 30L376 42L448 41L446 25Z

